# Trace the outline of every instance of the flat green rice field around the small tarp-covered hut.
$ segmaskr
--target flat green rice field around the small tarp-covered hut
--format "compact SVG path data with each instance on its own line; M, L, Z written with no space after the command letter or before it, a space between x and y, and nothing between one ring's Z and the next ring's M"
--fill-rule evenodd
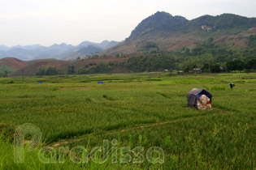
M0 78L0 124L37 125L47 146L161 147L163 164L131 152L128 164L42 164L35 153L13 163L0 139L0 169L255 169L256 74L91 74ZM42 83L38 83L42 81ZM98 84L103 81L104 84ZM228 83L235 83L233 90ZM187 108L193 87L213 95L213 110ZM2 149L5 148L5 149ZM136 152L136 151L135 151Z

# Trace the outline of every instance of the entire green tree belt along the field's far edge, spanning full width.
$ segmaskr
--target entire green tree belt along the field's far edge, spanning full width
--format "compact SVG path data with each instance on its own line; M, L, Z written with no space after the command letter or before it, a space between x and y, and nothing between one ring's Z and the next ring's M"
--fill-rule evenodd
M59 66L55 62L53 66L40 66L38 70L25 70L25 73L36 75L56 75L56 74L98 74L98 73L124 73L124 72L144 72L163 70L183 70L189 72L193 68L200 68L203 72L219 73L222 71L251 72L256 67L256 35L249 36L248 48L233 48L233 44L215 44L214 38L210 37L205 42L189 49L183 47L175 51L166 53L159 49L158 44L153 41L145 43L141 47L141 55L134 56L128 54L116 54L115 62L107 61L106 55L95 54L89 57L91 62L83 61L77 57L76 61L63 62ZM122 59L122 58L123 59ZM129 59L124 58L129 57ZM106 59L101 62L98 59ZM120 58L120 60L119 60ZM96 60L94 60L96 59ZM125 60L124 60L125 59ZM95 61L95 62L93 62ZM85 63L83 65L83 63ZM54 67L54 66L58 66ZM37 66L32 66L37 68ZM0 75L6 76L13 71L9 66L0 66ZM19 75L22 69L17 70Z

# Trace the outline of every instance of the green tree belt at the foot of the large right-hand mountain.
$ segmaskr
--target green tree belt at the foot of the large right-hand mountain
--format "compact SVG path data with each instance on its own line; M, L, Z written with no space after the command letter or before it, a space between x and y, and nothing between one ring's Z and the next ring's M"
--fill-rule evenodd
M149 42L142 48L145 54L138 57L130 57L127 62L89 63L84 67L78 68L76 73L93 74L163 70L184 70L184 72L189 72L193 68L201 68L204 72L212 73L256 70L256 48L230 49L228 45L215 45L212 41L213 39L209 38L205 43L197 45L194 49L181 48L171 53L160 52L157 44ZM253 41L251 40L250 42ZM93 57L97 58L99 56Z

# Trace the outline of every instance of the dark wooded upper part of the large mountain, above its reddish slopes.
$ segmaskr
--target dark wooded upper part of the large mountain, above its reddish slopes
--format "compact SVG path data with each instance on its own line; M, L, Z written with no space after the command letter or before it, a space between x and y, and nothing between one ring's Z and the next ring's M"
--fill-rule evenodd
M210 32L241 32L256 27L255 18L246 18L240 15L223 14L217 16L203 15L197 19L188 20L182 16L172 16L166 12L157 12L144 19L132 31L128 39L139 39L147 36L168 37L176 34L198 32L202 25L210 28Z

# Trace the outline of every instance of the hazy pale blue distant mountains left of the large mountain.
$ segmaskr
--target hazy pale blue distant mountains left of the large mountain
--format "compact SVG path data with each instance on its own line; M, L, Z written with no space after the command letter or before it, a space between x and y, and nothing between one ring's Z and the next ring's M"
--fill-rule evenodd
M0 58L15 57L23 61L34 59L54 58L59 60L72 60L76 57L86 57L92 53L102 52L102 50L118 45L117 41L104 40L102 43L84 41L80 45L67 45L65 43L51 45L16 45L8 47L0 45Z

